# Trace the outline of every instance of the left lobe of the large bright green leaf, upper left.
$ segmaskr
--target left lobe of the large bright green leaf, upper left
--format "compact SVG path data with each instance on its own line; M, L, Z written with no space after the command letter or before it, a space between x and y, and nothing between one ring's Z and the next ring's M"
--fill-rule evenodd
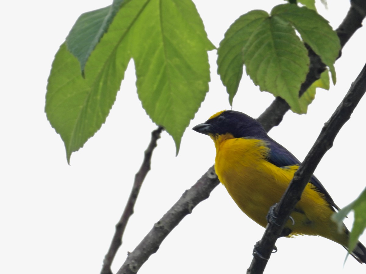
M131 58L128 50L118 49L128 47L127 30L138 12L138 6L134 11L120 9L108 33L90 55L85 79L65 45L56 53L48 79L45 111L64 141L68 163L71 153L82 148L100 129L116 99ZM125 39L120 41L121 37Z

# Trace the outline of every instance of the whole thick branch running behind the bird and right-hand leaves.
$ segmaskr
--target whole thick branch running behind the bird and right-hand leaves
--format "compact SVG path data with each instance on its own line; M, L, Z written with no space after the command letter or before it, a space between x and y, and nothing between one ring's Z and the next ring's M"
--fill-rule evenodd
M340 37L342 47L354 34L354 32L361 26L362 20L365 17L365 13L360 12L360 10L366 11L366 3L364 3L363 0L351 0L351 3L354 3L355 1L361 1L359 6L362 6L363 8L355 8L352 4L352 7L350 8L346 18L337 29L339 37L340 34L343 35L343 37ZM340 29L342 31L339 31ZM317 68L321 68L322 64L315 64L317 58L319 57L310 57L310 60L313 60L314 62L314 64L310 65L310 75L320 75L319 71L317 71ZM318 79L316 77L311 78L310 75L306 78L307 87L305 84L303 84L299 94L301 94L300 92L302 92L302 90L305 91L314 81ZM271 128L273 128L273 126L276 126L281 122L283 115L289 109L290 107L288 107L288 104L283 99L276 98L274 102L272 102L272 104L268 107L268 109L266 109L264 113L259 116L258 121L265 127L266 131L269 131ZM135 250L128 254L126 261L119 269L117 274L137 273L141 265L149 258L149 256L158 250L161 242L165 239L171 229L178 225L184 216L191 212L194 206L208 198L210 192L218 184L219 179L214 173L214 168L210 167L209 170L202 176L202 178L199 179L197 183L195 183L189 190L187 190L183 194L182 198L180 198L179 201L176 202L175 205L154 225L152 230L145 236L145 238L135 248Z

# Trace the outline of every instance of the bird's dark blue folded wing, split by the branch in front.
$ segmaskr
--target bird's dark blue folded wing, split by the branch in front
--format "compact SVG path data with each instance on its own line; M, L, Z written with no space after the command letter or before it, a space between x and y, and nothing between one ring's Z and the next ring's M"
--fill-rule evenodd
M285 167L287 165L295 165L300 164L300 161L296 159L294 155L282 145L277 143L275 140L269 138L268 145L270 148L270 154L268 156L268 161L277 167ZM320 183L320 181L312 175L310 178L310 183L313 184L317 191L324 195L326 201L332 205L334 208L339 210L339 207L334 203L332 197L330 197L328 191L325 190L324 186ZM331 206L331 208L332 208ZM332 208L333 209L333 208Z

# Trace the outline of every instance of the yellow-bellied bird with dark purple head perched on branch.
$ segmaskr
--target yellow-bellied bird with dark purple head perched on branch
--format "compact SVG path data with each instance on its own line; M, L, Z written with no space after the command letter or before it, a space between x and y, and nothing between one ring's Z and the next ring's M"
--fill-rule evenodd
M239 208L266 227L270 208L278 203L300 161L270 138L254 118L239 111L223 110L194 126L212 138L216 148L215 172ZM341 233L330 217L339 207L320 181L312 175L302 196L285 223L286 237L318 235L348 250L349 231ZM360 242L350 254L366 263L366 248Z

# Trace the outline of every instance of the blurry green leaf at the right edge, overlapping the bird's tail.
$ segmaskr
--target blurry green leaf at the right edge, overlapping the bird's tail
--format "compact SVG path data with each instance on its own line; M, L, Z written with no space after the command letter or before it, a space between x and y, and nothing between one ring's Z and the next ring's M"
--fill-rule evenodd
M355 201L333 214L332 220L338 224L340 231L343 229L343 219L351 210L354 210L355 219L350 233L348 248L349 250L354 250L359 236L366 228L366 189L362 191L361 195Z

